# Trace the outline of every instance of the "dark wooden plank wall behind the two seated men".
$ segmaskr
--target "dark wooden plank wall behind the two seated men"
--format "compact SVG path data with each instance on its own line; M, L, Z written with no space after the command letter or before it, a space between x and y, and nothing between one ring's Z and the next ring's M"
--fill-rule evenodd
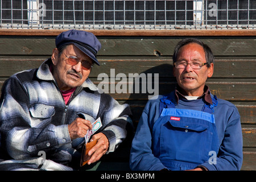
M43 60L51 56L55 48L55 36L61 31L10 31L0 30L0 88L3 82L16 72L38 68ZM196 37L207 43L216 57L214 74L207 84L213 94L237 106L241 114L243 133L242 170L256 169L256 34L255 30L238 31L91 31L102 44L98 52L100 67L95 66L90 78L95 84L102 83L104 75L109 81L111 94L120 103L129 104L133 111L133 122L137 126L148 95L127 92L112 92L111 86L120 84L129 73L158 74L159 94L171 92L176 81L172 75L172 53L174 47L185 37ZM112 72L110 72L112 69ZM113 72L114 71L114 72ZM110 78L111 77L111 78ZM148 77L147 77L148 78ZM112 80L111 80L112 79ZM148 78L149 79L149 78ZM154 81L154 80L153 80ZM154 82L152 83L154 85ZM133 90L134 91L134 90ZM156 90L154 91L156 92ZM129 152L129 151L128 151Z

